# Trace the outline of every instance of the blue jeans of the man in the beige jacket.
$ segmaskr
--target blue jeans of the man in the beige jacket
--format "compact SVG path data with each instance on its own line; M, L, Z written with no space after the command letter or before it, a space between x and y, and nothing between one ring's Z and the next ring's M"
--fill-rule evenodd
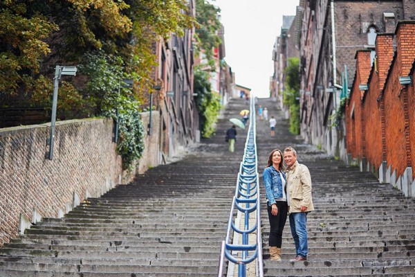
M293 235L295 251L297 256L307 258L308 242L307 242L307 213L291 213L290 227L291 235Z

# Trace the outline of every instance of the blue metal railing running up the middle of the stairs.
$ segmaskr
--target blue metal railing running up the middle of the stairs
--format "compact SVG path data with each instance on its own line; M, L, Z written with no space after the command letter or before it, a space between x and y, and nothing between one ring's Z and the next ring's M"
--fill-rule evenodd
M252 95L251 95L252 96ZM238 276L246 277L246 265L256 261L256 276L264 276L262 264L262 233L261 233L261 208L259 194L259 175L257 159L255 104L250 98L250 120L246 137L243 159L237 175L237 185L232 199L232 206L228 219L225 240L221 244L221 256L219 258L218 276L223 277L223 264L225 258L238 265ZM243 228L236 226L237 218L234 211L243 213ZM250 215L255 215L255 224L252 224ZM250 226L250 222L253 226ZM241 234L241 244L231 242L231 232ZM249 244L249 235L256 232L255 244ZM233 237L233 236L232 236ZM241 253L239 255L239 253ZM234 255L239 255L235 257Z

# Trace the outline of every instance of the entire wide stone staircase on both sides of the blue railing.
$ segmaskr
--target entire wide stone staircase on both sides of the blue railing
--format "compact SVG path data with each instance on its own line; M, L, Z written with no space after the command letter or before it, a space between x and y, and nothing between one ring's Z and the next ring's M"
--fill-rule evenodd
M288 132L282 111L259 99L277 132L257 118L259 173L274 148L292 145L311 171L315 211L308 214L308 260L295 257L288 220L282 262L270 262L264 186L264 276L415 276L414 199L369 172L345 166ZM246 109L231 100L216 126L183 159L151 168L128 185L82 202L64 218L44 218L0 248L0 277L216 276L246 131L229 153L225 130Z

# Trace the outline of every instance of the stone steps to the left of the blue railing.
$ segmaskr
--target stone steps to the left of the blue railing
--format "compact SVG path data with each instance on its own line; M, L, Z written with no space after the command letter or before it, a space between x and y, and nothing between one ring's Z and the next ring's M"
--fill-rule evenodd
M230 126L219 120L218 136L181 161L44 218L0 249L0 276L215 276L246 140L239 129L229 153Z

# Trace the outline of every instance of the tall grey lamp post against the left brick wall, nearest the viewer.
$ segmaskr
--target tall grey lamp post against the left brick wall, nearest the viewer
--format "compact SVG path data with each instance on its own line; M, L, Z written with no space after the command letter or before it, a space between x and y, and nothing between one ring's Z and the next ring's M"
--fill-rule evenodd
M76 66L55 66L55 77L53 78L53 102L52 102L52 116L50 118L50 137L46 139L46 145L49 145L49 151L46 152L48 159L53 159L53 145L55 144L55 123L56 123L56 109L57 109L57 89L59 87L59 80L62 75L76 75Z

